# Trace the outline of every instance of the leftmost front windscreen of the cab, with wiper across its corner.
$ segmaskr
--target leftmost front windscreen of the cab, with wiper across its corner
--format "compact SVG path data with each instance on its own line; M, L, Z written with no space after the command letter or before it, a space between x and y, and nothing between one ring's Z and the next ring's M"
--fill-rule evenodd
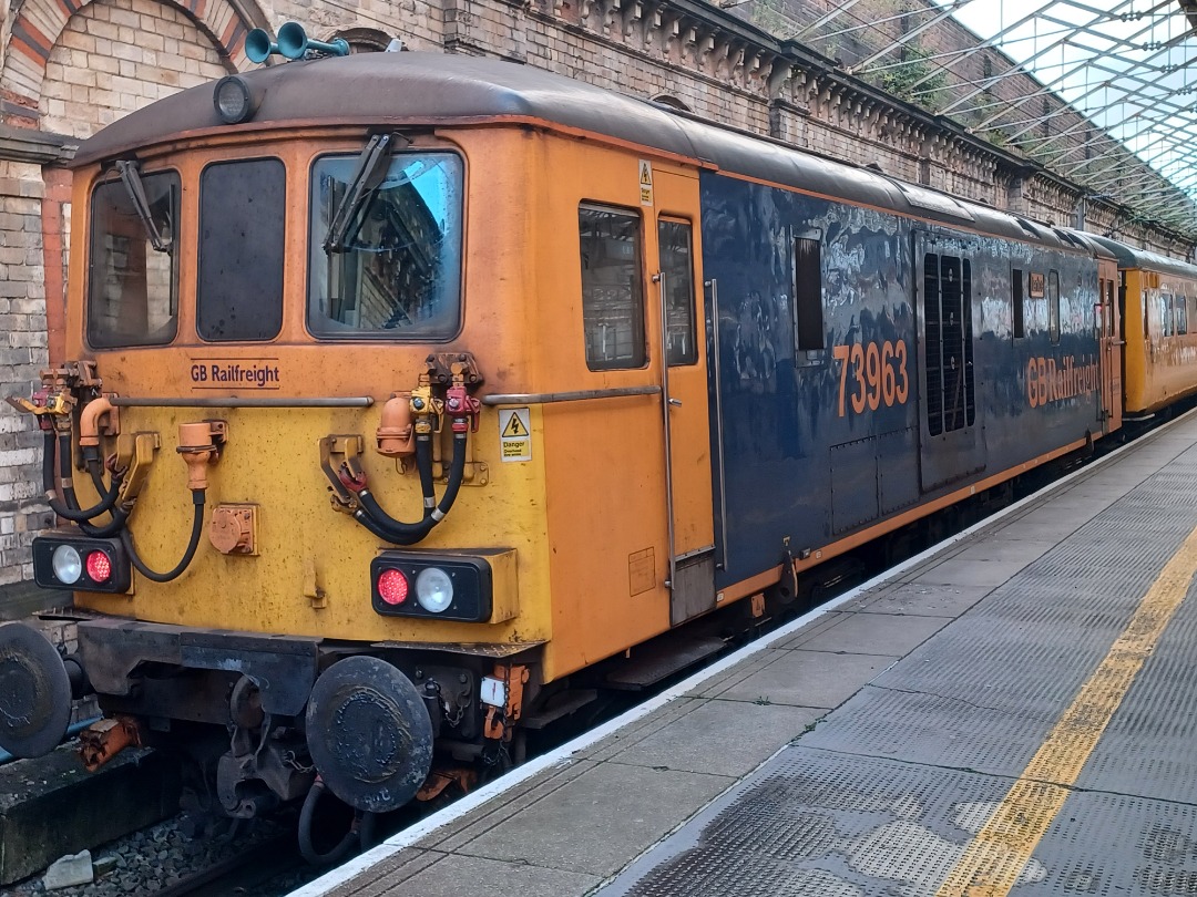
M178 175L141 173L140 183L152 228L122 181L91 197L87 343L98 349L162 346L178 328Z

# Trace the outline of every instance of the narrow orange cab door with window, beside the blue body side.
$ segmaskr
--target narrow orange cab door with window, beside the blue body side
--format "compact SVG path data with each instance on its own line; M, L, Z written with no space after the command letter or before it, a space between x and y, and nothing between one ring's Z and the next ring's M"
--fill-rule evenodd
M660 347L661 426L668 523L669 622L678 626L715 608L715 524L707 414L706 342L699 246L698 176L640 161L640 202L656 298L654 347ZM648 190L648 193L645 193ZM645 209L648 210L648 209ZM651 264L651 262L650 262Z

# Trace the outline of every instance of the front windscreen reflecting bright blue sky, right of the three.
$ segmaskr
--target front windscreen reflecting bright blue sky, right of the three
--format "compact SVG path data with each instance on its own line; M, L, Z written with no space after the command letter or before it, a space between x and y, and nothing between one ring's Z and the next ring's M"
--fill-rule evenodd
M449 340L461 329L461 157L326 155L311 171L308 329L346 340ZM354 183L377 185L360 190Z

